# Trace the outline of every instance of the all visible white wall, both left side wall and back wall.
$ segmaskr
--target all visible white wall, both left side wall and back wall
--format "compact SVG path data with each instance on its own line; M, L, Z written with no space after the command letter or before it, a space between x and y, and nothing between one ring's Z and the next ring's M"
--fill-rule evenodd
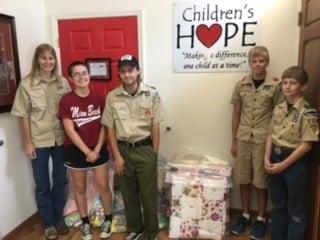
M269 70L279 76L297 63L297 11L300 0L269 0L259 44L271 54ZM272 2L272 3L271 3ZM19 60L22 76L30 69L36 45L51 39L52 16L108 16L121 11L143 10L141 49L144 71L158 88L167 111L162 133L163 151L176 152L192 147L214 157L232 161L230 97L240 73L172 72L172 3L169 0L1 0L0 12L16 17ZM45 8L45 9L44 9ZM46 14L46 15L45 15ZM280 37L281 36L281 37ZM56 44L56 39L52 42ZM281 49L281 51L280 51ZM0 114L0 238L36 211L29 160L25 157L18 123L9 114ZM237 189L237 188L235 188ZM231 206L239 207L236 190Z

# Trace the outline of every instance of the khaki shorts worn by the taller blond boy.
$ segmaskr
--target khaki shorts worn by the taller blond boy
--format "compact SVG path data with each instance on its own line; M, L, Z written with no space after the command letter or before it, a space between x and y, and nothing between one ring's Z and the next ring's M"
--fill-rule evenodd
M238 140L237 148L234 167L236 183L242 185L252 183L257 188L267 188L267 173L264 168L265 143Z

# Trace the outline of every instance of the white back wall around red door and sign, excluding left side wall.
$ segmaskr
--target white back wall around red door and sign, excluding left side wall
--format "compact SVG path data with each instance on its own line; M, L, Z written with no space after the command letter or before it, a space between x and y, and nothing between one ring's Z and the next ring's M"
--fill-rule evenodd
M172 3L161 0L45 0L48 26L50 18L70 16L108 16L121 11L143 10L143 65L146 81L157 87L167 111L166 125L171 132L162 132L162 151L194 148L226 161L231 139L230 97L240 73L172 72ZM259 2L259 4L261 4ZM270 50L269 71L275 76L297 63L297 12L300 1L269 0L262 20L259 45ZM50 31L49 31L50 32ZM233 190L232 207L239 208L237 188Z

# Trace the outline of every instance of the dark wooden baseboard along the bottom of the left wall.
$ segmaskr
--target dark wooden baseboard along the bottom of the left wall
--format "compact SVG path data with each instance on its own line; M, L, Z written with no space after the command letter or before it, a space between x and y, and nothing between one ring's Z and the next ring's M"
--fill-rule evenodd
M14 228L11 232L9 232L6 236L3 237L2 240L15 240L22 239L21 235L26 232L27 229L34 226L36 223L41 221L40 215L38 212L32 214L25 221L20 223L16 228Z

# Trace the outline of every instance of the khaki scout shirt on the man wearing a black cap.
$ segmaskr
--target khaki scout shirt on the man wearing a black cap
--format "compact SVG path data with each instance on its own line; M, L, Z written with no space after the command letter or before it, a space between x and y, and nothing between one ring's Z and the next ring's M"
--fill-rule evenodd
M162 120L162 114L157 90L140 83L134 96L123 86L108 94L101 123L114 128L118 140L135 142L151 136L152 125Z

